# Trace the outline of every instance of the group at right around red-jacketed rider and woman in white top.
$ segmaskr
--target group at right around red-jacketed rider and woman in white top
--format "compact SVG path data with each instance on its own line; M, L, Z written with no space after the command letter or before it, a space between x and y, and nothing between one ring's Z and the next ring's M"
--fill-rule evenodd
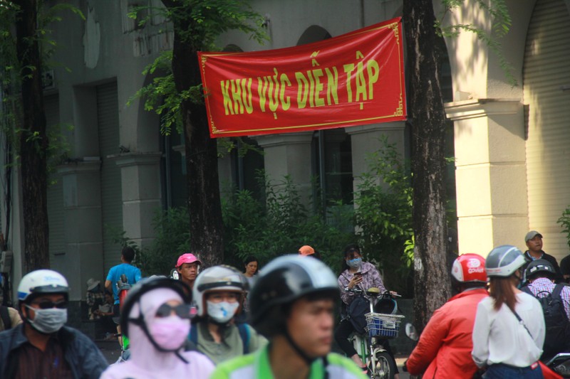
M457 294L434 312L405 368L423 378L562 378L545 363L570 351L569 275L542 238L527 233L524 253L502 245L486 259L460 255Z

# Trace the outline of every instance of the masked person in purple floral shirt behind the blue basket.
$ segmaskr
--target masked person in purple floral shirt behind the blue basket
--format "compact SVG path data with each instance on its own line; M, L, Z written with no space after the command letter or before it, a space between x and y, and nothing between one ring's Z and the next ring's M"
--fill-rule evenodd
M386 291L382 277L380 277L380 272L378 272L378 269L372 263L362 261L361 249L356 244L351 244L344 248L343 269L341 275L338 277L338 287L341 289L343 309L346 309L353 299L358 296L354 292L349 292L348 289L356 287L366 291L371 287L377 287L380 289L380 293ZM343 314L341 323L338 324L334 331L334 338L338 346L346 353L346 356L350 357L359 367L363 368L363 370L366 370L366 364L363 363L361 357L356 353L351 341L348 341L348 336L350 336L353 331L354 327L351 321L346 319L346 315ZM385 341L383 346L390 356L393 357L388 341ZM397 366L394 378L399 378Z

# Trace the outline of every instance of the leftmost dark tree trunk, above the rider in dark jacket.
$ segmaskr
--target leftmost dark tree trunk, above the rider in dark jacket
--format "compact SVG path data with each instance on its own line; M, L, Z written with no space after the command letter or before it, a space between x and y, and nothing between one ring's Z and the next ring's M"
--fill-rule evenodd
M24 210L24 270L49 267L47 161L48 139L43 110L41 57L36 39L36 0L15 1L16 48L21 65L24 124L20 137L22 205ZM7 236L6 236L7 237Z

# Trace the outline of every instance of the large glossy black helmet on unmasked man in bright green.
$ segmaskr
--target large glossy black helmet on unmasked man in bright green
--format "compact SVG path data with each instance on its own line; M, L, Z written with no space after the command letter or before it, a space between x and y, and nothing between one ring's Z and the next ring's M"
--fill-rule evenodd
M252 326L260 333L271 335L282 326L280 309L308 294L322 292L333 299L340 297L336 277L320 260L299 255L284 255L269 262L259 274L249 294Z

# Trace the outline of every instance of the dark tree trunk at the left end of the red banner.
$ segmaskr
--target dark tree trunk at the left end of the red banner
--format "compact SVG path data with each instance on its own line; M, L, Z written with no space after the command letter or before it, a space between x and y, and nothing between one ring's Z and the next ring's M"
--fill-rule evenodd
M189 29L182 26L181 30ZM197 51L181 40L177 28L172 50L172 71L179 92L201 82ZM219 194L217 143L209 137L204 103L186 100L181 108L186 143L190 248L200 255L205 267L219 265L224 261L224 224Z

